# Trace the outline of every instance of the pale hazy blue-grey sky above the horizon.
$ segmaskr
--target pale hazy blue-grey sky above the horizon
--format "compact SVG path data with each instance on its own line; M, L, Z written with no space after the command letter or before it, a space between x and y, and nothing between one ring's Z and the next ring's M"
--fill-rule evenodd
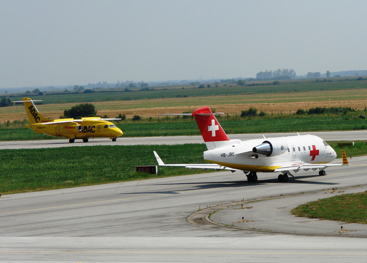
M367 69L367 1L0 0L0 87Z

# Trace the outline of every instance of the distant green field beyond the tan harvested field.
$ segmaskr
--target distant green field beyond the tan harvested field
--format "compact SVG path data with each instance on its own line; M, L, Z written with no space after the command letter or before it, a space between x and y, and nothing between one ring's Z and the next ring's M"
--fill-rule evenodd
M162 99L173 97L206 97L219 95L249 95L249 94L269 94L269 93L297 93L308 91L323 90L346 90L346 89L366 89L367 81L356 81L349 78L332 79L332 82L315 82L312 80L286 80L280 81L280 85L272 85L273 81L251 82L247 86L238 86L236 83L211 85L211 88L198 89L197 86L174 86L167 88L154 88L154 90L144 91L123 91L124 89L96 90L95 93L44 93L39 96L36 94L11 95L12 100L22 100L22 97L31 97L33 100L43 100L44 104L49 103L82 103L113 100L145 100ZM268 84L268 85L264 85ZM248 86L254 85L254 86ZM286 96L282 96L283 99Z

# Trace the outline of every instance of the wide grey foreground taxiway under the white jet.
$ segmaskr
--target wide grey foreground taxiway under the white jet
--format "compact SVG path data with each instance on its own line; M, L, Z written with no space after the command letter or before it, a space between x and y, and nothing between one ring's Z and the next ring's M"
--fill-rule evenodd
M326 176L302 171L287 183L279 183L277 174L259 173L253 184L243 173L224 171L5 195L0 199L0 259L365 262L366 238L238 231L197 226L186 218L207 207L242 200L292 195L297 203L304 199L296 193L367 185L366 161L367 157L355 157L349 167L327 168Z

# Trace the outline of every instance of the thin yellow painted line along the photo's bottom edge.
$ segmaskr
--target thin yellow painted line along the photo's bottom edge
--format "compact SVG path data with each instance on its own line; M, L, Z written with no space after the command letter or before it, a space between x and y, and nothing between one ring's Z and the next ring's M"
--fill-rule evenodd
M121 254L237 254L237 255L360 255L364 256L367 253L290 253L290 252L159 252L159 251L58 251L58 250L0 250L7 253L121 253Z

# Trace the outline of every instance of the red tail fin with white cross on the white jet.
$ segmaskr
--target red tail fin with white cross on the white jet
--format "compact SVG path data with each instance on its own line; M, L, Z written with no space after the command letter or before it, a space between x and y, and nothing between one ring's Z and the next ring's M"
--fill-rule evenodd
M192 113L192 116L195 117L197 126L200 129L201 135L203 136L204 142L206 142L208 149L213 149L220 145L220 143L217 143L218 145L216 146L215 142L229 141L228 136L223 131L221 125L214 115L215 113L212 113L209 107L197 109ZM214 147L210 147L209 145L211 144L214 144Z

